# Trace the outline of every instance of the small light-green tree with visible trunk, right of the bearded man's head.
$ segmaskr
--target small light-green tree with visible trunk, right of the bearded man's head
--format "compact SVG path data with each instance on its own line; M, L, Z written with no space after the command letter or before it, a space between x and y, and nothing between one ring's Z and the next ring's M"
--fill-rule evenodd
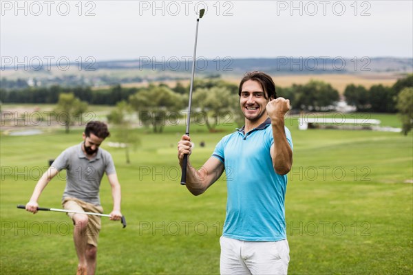
M133 113L133 108L127 104L125 100L122 100L116 104L116 108L107 115L109 123L116 125L118 131L116 131L115 139L121 144L125 144L125 157L126 163L129 164L129 148L130 146L137 146L140 144L138 136L131 129L131 122L128 120L128 116Z

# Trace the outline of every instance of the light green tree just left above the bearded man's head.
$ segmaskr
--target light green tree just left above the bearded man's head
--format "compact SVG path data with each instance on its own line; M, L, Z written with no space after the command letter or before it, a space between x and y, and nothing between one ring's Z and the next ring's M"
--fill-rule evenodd
M54 108L56 120L63 123L65 132L69 133L70 126L81 121L81 115L87 110L87 102L76 98L73 93L60 94L59 101Z

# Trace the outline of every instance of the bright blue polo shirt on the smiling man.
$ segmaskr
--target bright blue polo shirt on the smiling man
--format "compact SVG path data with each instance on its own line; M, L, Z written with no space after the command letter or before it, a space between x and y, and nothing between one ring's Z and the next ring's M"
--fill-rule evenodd
M285 127L291 148L293 141ZM242 241L286 239L284 199L287 176L278 175L270 155L271 120L244 133L226 135L213 152L225 166L228 199L223 236Z

